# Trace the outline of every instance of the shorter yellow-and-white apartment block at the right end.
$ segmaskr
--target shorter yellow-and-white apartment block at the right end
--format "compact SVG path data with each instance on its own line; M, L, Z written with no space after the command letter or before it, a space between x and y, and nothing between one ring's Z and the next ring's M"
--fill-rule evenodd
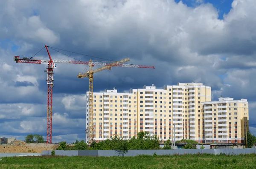
M206 143L244 143L246 129L249 129L247 99L220 97L218 101L202 105Z

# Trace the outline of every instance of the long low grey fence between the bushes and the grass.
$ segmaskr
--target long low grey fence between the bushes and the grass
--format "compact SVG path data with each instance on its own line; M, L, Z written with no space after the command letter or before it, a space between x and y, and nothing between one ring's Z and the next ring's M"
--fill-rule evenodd
M43 151L42 155L51 155L52 151ZM184 154L226 154L226 155L240 155L240 154L255 154L256 148L247 149L174 149L174 150L128 150L122 153L117 150L55 150L55 155L64 156L137 156L137 155L184 155Z

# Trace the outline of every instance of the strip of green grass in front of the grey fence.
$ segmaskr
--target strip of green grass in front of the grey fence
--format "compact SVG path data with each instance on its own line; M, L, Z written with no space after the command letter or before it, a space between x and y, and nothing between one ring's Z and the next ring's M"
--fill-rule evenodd
M0 167L33 169L255 169L256 154L251 155L172 155L136 157L9 157Z

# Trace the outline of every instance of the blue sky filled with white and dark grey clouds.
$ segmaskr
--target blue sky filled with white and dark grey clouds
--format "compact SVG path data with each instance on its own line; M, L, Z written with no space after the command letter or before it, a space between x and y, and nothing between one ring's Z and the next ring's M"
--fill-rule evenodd
M256 135L255 9L255 0L0 1L1 137L46 139L47 66L13 61L15 55L32 57L45 45L90 56L49 49L52 59L129 57L128 63L156 68L99 72L94 92L193 81L211 86L212 100L245 98ZM34 58L49 57L43 49ZM53 143L85 139L88 79L77 78L84 69L64 63L54 69Z

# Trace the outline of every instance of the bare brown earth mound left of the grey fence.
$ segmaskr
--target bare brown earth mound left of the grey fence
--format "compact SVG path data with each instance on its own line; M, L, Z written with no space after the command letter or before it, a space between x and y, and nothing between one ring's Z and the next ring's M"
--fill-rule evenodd
M44 150L55 150L59 145L46 143L26 143L15 140L0 146L0 153L41 153Z

